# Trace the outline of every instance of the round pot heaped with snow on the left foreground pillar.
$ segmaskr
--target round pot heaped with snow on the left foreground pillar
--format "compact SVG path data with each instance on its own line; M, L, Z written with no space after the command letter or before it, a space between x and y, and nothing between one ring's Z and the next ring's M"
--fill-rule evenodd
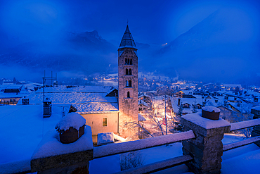
M68 113L56 125L56 130L60 134L60 142L69 144L76 142L84 135L86 119L79 113Z

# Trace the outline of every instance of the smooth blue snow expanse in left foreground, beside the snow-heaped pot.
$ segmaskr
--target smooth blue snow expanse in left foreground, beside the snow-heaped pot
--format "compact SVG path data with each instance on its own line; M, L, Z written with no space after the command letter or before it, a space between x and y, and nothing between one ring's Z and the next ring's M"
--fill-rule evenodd
M62 117L63 108L52 107L52 116L43 118L43 105L0 106L0 173L30 170L34 150Z

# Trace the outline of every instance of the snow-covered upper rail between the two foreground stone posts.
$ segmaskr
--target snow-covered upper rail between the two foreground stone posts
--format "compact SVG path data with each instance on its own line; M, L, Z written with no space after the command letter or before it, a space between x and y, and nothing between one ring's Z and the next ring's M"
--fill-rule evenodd
M94 159L122 154L129 151L136 151L141 149L147 149L150 147L157 147L164 144L169 144L173 142L178 142L187 139L193 139L195 135L193 130L187 132L180 132L176 134L164 135L160 137L152 137L147 139L139 139L132 142L122 142L117 144L108 144L101 147L95 147L94 150Z

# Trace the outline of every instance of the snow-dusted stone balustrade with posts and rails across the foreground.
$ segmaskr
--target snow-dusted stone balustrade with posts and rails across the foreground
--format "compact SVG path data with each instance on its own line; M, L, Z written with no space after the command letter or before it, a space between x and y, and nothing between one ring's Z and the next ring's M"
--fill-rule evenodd
M185 132L140 139L133 142L109 144L95 147L94 151L93 147L91 147L83 151L49 155L42 158L37 157L37 153L34 153L31 161L31 171L37 171L38 173L89 173L89 161L93 159L182 141L183 156L124 170L120 173L150 173L180 165L181 163L186 163L193 173L221 173L223 151L241 147L260 139L260 137L254 137L246 139L244 142L226 144L223 147L223 135L230 132L230 128L232 128L231 130L248 128L249 126L259 125L259 121L260 119L230 124L221 118L219 120L202 118L201 113L188 114L181 118L181 124L184 126ZM86 130L86 132L90 134L91 130ZM88 136L91 136L91 134ZM66 146L67 144L64 145ZM44 147L44 144L40 144L36 151L42 151L44 148L41 147Z

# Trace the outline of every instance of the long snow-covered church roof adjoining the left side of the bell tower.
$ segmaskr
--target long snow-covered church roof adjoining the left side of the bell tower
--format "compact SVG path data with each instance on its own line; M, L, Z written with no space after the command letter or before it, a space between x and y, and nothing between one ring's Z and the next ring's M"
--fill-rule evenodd
M45 98L49 98L52 104L72 104L79 113L118 111L117 98L106 97L113 89L115 88L100 86L46 87ZM30 104L42 104L43 89L27 97ZM22 104L22 101L18 104Z

